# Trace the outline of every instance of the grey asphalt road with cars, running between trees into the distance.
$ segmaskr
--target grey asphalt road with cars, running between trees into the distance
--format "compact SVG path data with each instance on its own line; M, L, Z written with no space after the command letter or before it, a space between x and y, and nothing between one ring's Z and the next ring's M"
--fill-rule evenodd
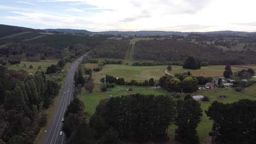
M84 56L87 56L87 54L88 53L86 53ZM64 117L67 106L73 99L74 73L82 59L83 56L75 60L75 62L71 64L71 68L68 70L65 86L63 86L57 109L54 113L53 119L51 119L48 129L45 132L42 143L65 143L65 134L62 131L62 118ZM62 131L62 135L60 135L60 131Z

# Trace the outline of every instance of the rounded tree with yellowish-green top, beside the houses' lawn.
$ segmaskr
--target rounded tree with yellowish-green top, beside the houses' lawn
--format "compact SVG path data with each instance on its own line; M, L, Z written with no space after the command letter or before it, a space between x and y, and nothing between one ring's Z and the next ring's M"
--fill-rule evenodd
M188 76L183 81L181 81L180 87L183 89L183 92L191 93L197 90L197 83L198 81L195 77Z

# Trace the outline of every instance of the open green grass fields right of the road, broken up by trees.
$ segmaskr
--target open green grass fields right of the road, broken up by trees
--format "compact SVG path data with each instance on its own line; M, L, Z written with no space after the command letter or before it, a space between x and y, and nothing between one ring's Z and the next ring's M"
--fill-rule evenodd
M88 68L93 68L97 66L97 64L86 64ZM173 70L169 73L182 73L187 72L187 69L175 69L181 68L181 66L172 66ZM232 66L232 70L241 70L253 68L256 69L255 65L234 65ZM92 77L95 80L95 89L92 93L85 92L83 89L82 93L79 96L79 99L82 100L85 104L85 111L90 115L95 112L95 108L98 105L98 102L102 99L109 98L109 95L113 95L113 97L117 97L120 95L131 94L125 91L127 88L132 88L132 93L141 93L141 94L171 94L170 92L163 90L155 90L149 89L148 87L133 87L133 86L116 86L112 91L100 92L100 79L104 77L106 74L110 74L112 76L123 77L126 81L135 79L135 80L148 80L153 77L155 80L158 80L162 75L164 75L164 71L166 70L166 65L163 66L149 66L149 67L132 67L130 65L118 65L118 64L108 64L105 65L104 68L97 72L93 73ZM203 75L203 76L213 76L218 77L223 75L224 65L214 65L208 67L202 67L200 70L189 70L193 75ZM197 91L191 95L204 95L210 98L210 101L200 101L201 107L203 110L208 109L211 105L212 101L218 100L223 103L232 103L234 101L238 101L240 99L252 99L256 100L256 85L248 87L244 89L242 92L236 92L232 88L228 88L227 90L213 90L213 91ZM219 98L219 95L226 95L227 98ZM183 98L182 98L183 99ZM169 128L169 132L171 136L174 136L174 130L176 126L171 125ZM207 143L210 140L208 133L211 131L212 121L208 119L205 112L203 111L202 121L197 127L198 134L200 136L201 143Z

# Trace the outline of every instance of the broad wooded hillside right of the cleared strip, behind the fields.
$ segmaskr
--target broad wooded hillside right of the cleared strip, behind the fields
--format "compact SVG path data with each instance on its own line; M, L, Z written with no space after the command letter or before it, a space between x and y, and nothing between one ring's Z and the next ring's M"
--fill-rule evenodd
M211 45L200 45L184 40L141 40L135 44L134 58L149 61L183 62L188 56L210 65L255 64L256 52L251 50L223 51Z

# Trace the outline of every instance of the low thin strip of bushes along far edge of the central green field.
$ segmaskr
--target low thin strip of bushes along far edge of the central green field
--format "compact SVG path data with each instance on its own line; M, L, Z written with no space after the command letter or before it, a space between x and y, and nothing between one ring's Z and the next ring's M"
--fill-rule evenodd
M150 61L138 61L133 62L132 66L154 66L154 65L183 65L183 62L150 62Z

